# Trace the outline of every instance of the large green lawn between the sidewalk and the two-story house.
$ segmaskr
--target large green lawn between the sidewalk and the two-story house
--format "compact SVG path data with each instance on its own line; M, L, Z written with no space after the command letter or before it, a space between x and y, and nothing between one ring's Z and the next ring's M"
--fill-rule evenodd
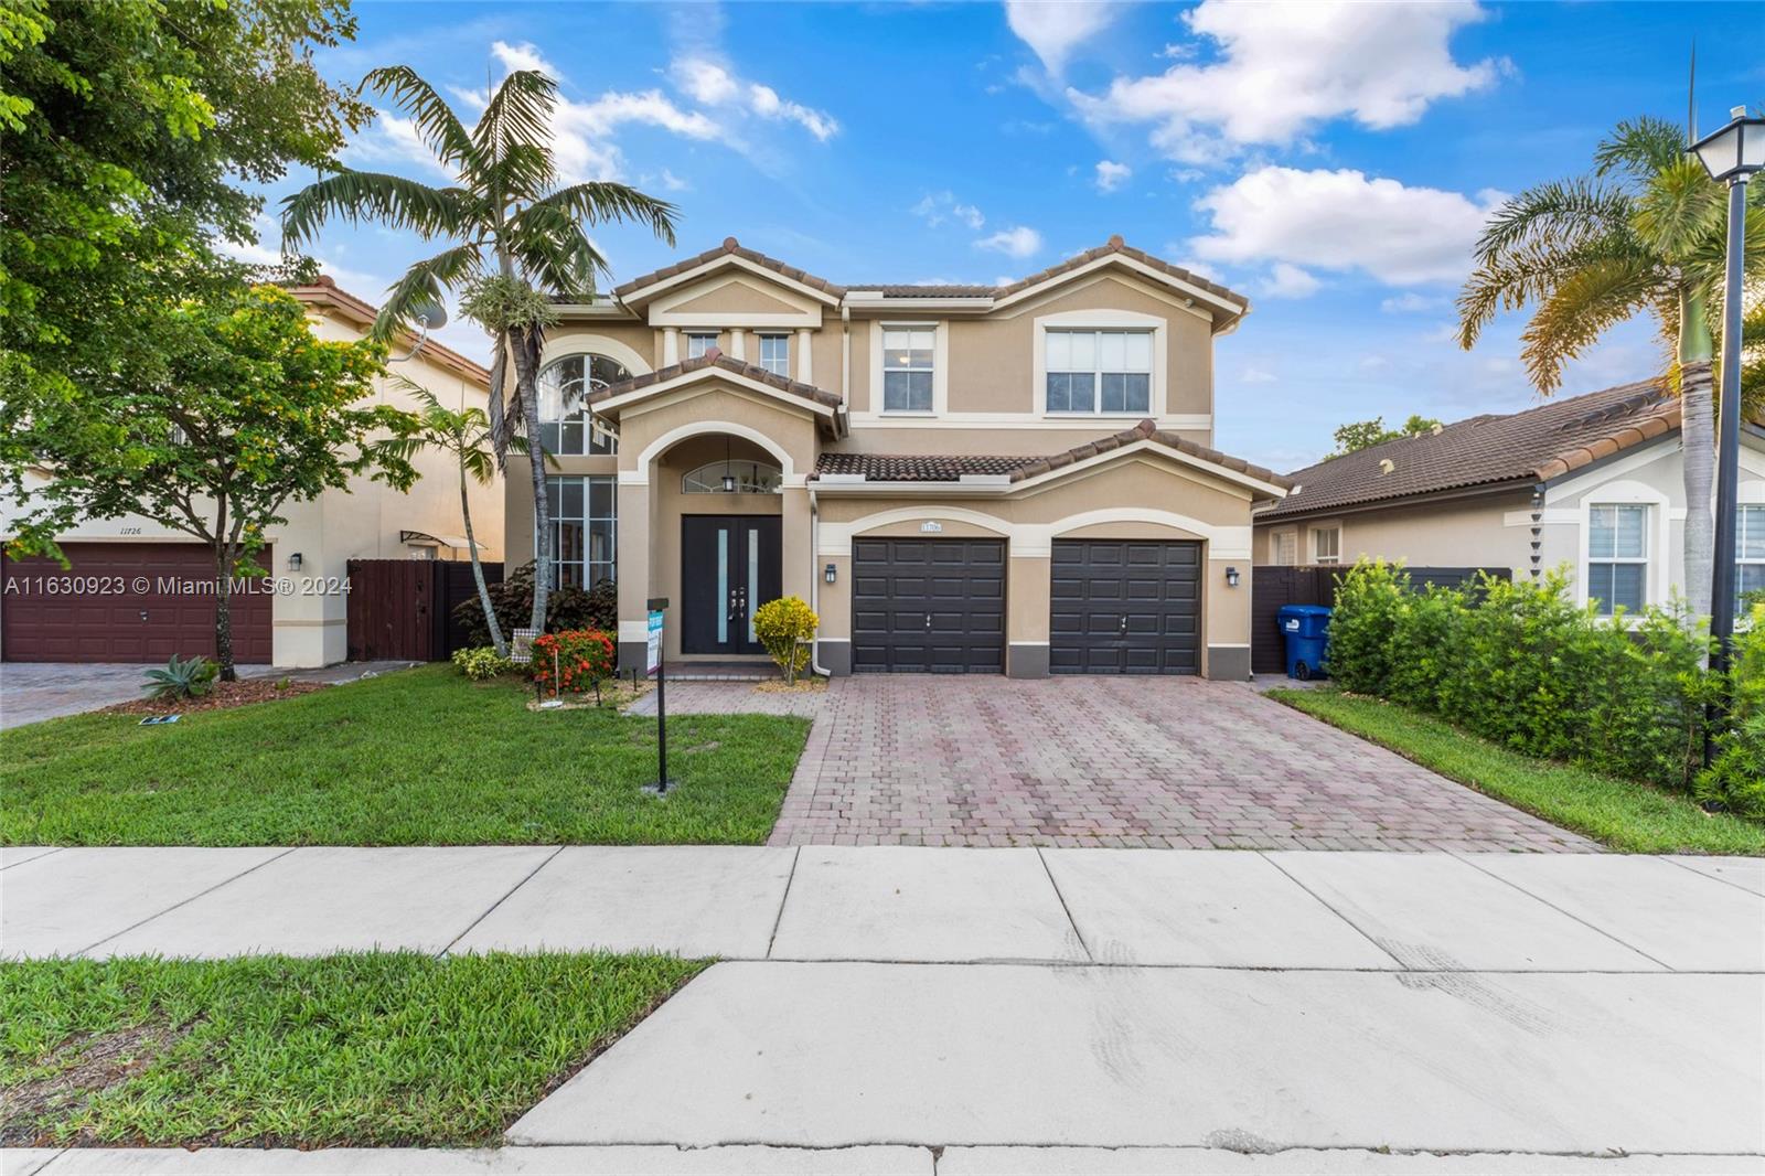
M807 719L530 712L427 666L143 727L78 715L0 733L0 842L65 846L761 844Z

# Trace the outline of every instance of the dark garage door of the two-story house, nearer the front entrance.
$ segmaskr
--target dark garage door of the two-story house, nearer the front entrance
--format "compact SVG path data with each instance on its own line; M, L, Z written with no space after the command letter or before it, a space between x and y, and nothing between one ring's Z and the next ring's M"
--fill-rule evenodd
M1004 542L854 539L852 669L1004 673Z

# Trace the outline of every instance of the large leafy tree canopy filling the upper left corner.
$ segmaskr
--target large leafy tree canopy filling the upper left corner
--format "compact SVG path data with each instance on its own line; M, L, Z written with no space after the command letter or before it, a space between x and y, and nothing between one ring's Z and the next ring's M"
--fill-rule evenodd
M235 281L199 263L215 238L256 240L256 185L323 164L371 115L311 60L353 34L346 0L0 4L9 406L85 394L159 341L139 307ZM0 434L0 491L26 459Z

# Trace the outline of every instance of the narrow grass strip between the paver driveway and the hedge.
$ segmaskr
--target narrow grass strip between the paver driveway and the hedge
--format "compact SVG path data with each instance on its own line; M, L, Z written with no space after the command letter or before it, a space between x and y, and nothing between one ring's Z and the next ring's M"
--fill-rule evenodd
M1705 812L1677 793L1532 759L1375 697L1331 689L1269 697L1613 849L1765 855L1765 825Z

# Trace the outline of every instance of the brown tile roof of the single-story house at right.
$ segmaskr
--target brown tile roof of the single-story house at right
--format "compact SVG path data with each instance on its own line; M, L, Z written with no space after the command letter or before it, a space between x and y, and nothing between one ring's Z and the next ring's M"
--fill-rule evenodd
M1483 415L1440 433L1373 445L1287 477L1294 493L1257 521L1412 494L1504 482L1544 482L1679 427L1679 397L1659 380ZM1391 471L1380 463L1391 461Z

